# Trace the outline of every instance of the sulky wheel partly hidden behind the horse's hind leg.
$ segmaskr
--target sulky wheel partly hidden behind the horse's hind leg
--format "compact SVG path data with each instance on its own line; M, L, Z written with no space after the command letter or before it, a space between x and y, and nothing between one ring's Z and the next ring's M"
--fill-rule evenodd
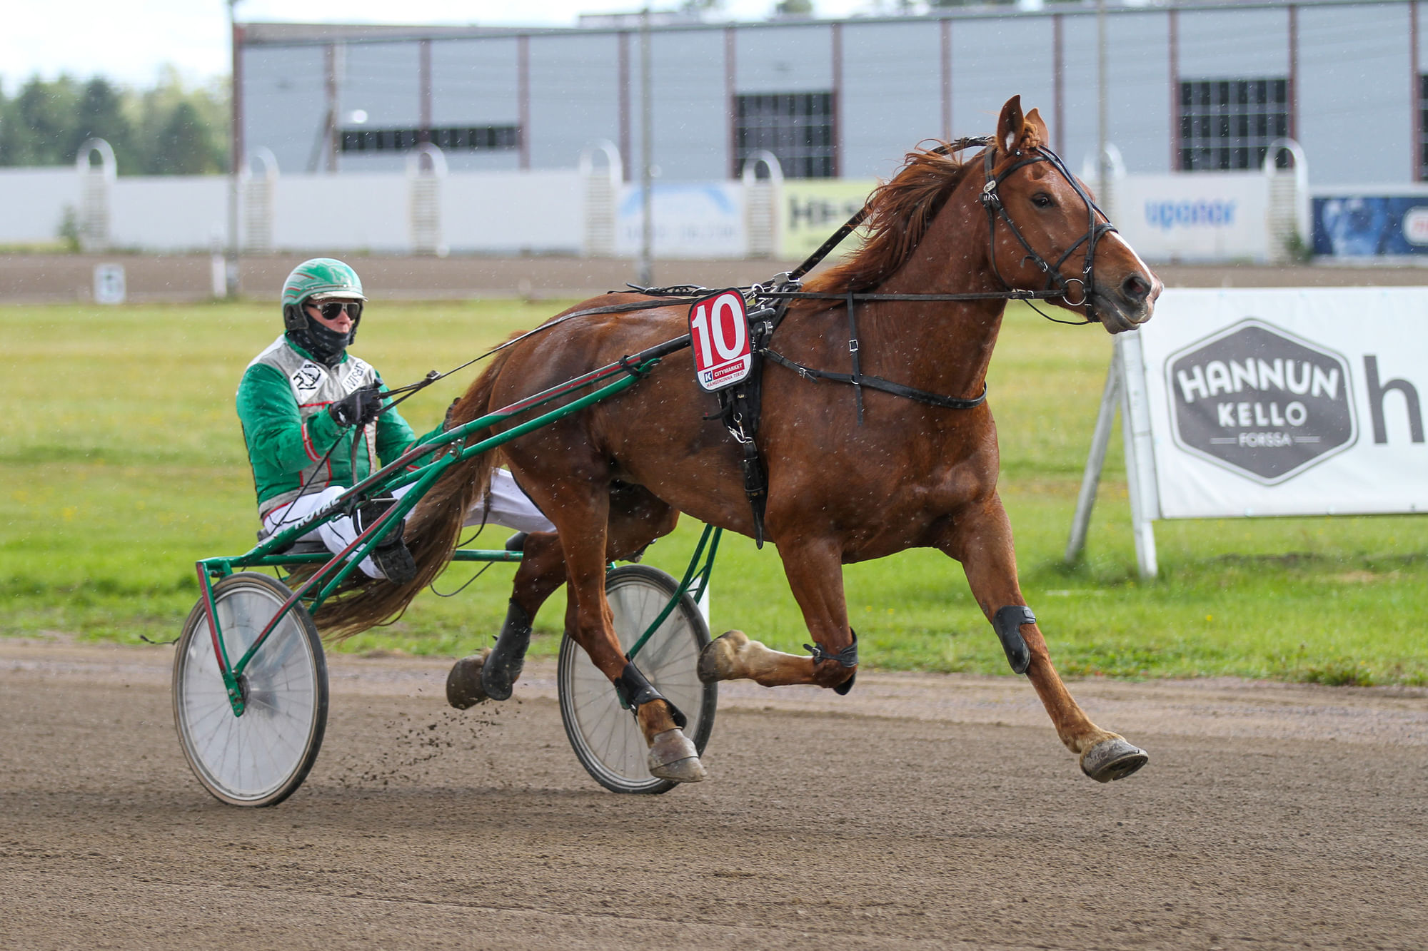
M628 651L640 640L678 587L664 571L645 565L624 565L605 575L605 598L621 650ZM714 730L718 703L718 685L700 683L697 673L700 651L708 643L708 625L694 598L684 594L634 657L635 667L655 690L688 717L684 734L700 754ZM651 794L677 785L650 775L644 735L634 714L620 705L614 685L568 634L560 643L555 680L565 735L595 783L614 792Z

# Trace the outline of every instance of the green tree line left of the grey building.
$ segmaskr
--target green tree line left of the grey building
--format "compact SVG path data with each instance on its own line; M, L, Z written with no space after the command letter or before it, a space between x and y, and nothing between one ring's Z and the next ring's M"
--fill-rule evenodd
M0 89L0 166L73 163L89 139L114 149L121 176L227 171L227 81L190 87L169 67L149 89L101 76L36 76L14 96Z

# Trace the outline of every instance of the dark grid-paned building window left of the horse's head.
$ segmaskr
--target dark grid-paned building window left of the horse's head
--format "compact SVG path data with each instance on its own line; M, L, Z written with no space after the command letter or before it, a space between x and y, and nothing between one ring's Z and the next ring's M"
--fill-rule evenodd
M755 151L778 156L788 178L834 174L833 93L734 97L734 177Z

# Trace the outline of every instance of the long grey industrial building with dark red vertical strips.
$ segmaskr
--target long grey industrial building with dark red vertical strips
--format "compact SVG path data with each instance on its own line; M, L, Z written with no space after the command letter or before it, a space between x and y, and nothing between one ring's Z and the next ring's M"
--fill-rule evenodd
M1315 187L1428 173L1419 3L1167 3L1105 14L1108 141L1131 173L1255 168L1291 137ZM650 29L653 161L718 180L754 150L788 177L890 174L928 137L987 134L1008 96L1040 107L1074 167L1097 149L1097 11ZM401 168L420 141L456 170L568 168L641 136L637 17L577 29L237 27L241 147L284 171Z

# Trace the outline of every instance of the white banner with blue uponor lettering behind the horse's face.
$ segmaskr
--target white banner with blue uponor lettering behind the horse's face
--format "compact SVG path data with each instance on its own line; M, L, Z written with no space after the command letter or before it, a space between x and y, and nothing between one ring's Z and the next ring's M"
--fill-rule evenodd
M1269 186L1259 171L1115 180L1115 227L1151 261L1262 261L1268 211Z

